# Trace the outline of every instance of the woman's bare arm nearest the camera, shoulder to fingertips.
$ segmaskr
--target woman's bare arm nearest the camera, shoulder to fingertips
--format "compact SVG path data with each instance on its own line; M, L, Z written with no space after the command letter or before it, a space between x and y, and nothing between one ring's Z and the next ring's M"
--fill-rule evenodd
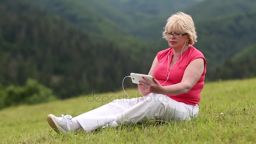
M150 83L149 80L144 79L146 83L141 82L141 85L152 93L170 94L178 95L182 93L187 93L200 79L204 71L204 60L195 59L192 61L185 69L184 75L180 83L174 85L162 86L153 77L153 82Z

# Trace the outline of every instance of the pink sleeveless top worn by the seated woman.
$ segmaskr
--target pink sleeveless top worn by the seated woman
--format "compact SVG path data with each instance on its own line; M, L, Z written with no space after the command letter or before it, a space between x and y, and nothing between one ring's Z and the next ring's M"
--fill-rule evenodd
M170 49L170 59L168 64L169 49ZM167 67L168 65L171 64L172 56L173 56L172 48L168 48L157 53L158 65L155 69L154 77L159 81L160 84L164 83L168 77ZM202 76L200 77L198 82L194 85L194 87L188 93L183 93L175 96L173 95L167 95L167 96L169 96L171 99L175 101L183 102L185 104L195 105L199 103L201 98L200 93L203 90L203 86L204 86L204 79L205 79L205 73L206 73L206 60L205 60L205 57L203 56L203 53L201 53L195 47L190 46L187 49L187 51L182 53L182 59L181 59L181 55L179 55L179 58L177 61L179 61L180 59L181 61L173 65L167 82L163 84L163 86L165 86L165 85L173 85L176 83L180 83L182 80L184 71L189 65L189 63L199 58L204 59L205 69L203 71Z

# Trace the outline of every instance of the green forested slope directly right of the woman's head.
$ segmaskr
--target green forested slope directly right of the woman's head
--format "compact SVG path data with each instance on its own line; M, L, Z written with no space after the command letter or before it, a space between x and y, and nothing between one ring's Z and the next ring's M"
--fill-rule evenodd
M256 11L236 13L196 23L198 42L195 47L203 51L209 67L256 44L255 15Z

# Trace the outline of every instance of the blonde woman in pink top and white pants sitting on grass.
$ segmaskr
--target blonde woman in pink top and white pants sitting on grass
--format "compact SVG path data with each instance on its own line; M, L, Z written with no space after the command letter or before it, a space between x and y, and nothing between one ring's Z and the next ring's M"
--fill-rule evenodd
M163 37L170 48L158 52L152 63L149 75L153 76L153 83L144 78L145 82L138 85L144 97L116 99L74 118L50 114L47 117L49 125L57 133L79 129L90 132L102 126L197 117L206 60L192 46L197 35L191 16L182 12L173 14L167 20Z

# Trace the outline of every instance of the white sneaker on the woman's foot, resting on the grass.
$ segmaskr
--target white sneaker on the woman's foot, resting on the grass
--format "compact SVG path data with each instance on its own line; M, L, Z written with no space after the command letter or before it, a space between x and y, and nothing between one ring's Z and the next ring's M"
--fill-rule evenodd
M48 115L48 124L53 128L56 133L67 133L69 131L75 131L77 125L80 125L77 120L72 120L71 115L61 115L61 117L56 117L55 115Z

